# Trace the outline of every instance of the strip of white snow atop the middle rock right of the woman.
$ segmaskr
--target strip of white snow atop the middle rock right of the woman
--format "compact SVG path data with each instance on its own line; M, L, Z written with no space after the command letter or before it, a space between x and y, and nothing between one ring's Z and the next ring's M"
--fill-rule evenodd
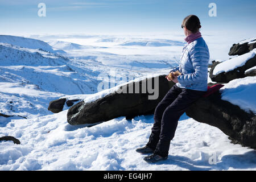
M255 52L256 49L253 49L252 51L244 53L241 56L237 56L232 59L223 61L220 64L217 64L216 67L213 69L213 75L218 75L219 73L232 71L237 67L242 67L243 65L245 65L247 60L255 56Z

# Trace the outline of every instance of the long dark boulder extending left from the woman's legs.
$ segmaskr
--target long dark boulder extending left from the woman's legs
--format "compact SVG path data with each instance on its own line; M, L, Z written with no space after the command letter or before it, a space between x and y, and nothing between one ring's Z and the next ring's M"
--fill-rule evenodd
M155 94L151 93L148 89L145 93L135 93L135 82L132 82L129 85L127 84L119 88L118 93L110 93L105 97L89 103L82 101L70 107L67 114L68 123L71 125L81 125L109 121L110 119L121 116L133 118L137 115L153 114L160 100L162 100L168 90L174 85L174 82L168 82L165 76L162 75L139 81L139 90L142 90L142 82L144 83L144 81L152 81L152 85L156 83L155 81L159 81L159 94L155 100L148 99L148 96ZM125 89L133 90L133 93L128 91L127 93L119 93Z

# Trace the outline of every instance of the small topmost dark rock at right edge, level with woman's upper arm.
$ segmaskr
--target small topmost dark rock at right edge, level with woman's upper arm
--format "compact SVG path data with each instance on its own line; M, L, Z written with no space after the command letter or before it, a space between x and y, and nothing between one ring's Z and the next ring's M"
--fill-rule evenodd
M256 39L255 39L256 40ZM251 42L253 42L252 40ZM256 48L256 43L250 43L246 42L243 44L233 44L233 46L229 50L229 55L234 56L234 55L242 55L244 53L247 53L251 51L252 49Z

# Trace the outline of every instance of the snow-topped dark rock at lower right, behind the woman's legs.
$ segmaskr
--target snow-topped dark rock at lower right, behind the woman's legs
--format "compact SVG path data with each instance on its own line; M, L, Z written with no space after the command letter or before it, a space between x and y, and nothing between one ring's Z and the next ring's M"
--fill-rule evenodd
M186 114L217 127L235 143L256 148L255 85L253 77L232 80L220 92L200 98Z

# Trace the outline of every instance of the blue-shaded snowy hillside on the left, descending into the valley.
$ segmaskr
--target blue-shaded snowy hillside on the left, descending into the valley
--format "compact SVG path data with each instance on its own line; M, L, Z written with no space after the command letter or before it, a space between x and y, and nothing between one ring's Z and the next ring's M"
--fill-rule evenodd
M26 82L64 94L94 92L97 81L92 81L96 80L96 73L77 67L67 57L3 43L0 53L1 81Z

